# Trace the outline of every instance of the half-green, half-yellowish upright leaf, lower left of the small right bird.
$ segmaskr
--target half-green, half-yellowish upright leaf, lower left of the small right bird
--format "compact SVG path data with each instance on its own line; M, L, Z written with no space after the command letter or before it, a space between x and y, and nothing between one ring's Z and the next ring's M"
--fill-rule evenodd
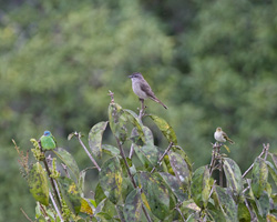
M191 190L194 202L201 208L206 206L211 192L209 172L207 165L201 167L194 172L192 176Z

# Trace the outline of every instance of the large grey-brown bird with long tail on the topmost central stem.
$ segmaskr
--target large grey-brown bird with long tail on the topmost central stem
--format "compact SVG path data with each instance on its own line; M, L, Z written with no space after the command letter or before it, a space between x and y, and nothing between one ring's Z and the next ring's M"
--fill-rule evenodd
M150 84L143 78L142 73L135 72L129 75L129 78L131 78L133 91L140 98L140 100L145 100L148 98L162 104L165 109L167 109L167 107L161 100L156 98Z

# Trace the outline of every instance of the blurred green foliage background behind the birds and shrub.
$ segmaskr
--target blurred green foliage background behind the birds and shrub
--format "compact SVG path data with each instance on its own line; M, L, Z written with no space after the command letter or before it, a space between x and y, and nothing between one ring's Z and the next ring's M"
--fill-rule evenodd
M126 78L134 71L170 108L146 101L173 125L195 169L209 160L218 125L236 142L229 155L242 170L263 142L277 151L275 1L0 2L0 221L25 220L20 208L34 214L11 139L27 150L28 138L51 130L88 165L65 138L107 119L109 90L135 110Z

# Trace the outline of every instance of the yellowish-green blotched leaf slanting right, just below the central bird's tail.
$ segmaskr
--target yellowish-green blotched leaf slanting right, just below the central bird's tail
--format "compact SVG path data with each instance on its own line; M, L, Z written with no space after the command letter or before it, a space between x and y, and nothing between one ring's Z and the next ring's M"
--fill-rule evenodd
M167 139L168 142L177 144L177 137L173 128L164 119L154 114L150 114L148 117L155 122L155 124L162 131L162 133L164 134L164 137Z

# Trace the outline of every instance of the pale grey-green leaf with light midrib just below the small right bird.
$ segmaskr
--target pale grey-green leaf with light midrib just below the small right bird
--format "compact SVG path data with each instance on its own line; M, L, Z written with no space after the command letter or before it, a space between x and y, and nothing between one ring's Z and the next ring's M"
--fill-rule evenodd
M224 158L223 168L226 179L228 181L228 185L235 192L235 195L239 195L243 191L243 178L239 167L234 160L229 158Z

